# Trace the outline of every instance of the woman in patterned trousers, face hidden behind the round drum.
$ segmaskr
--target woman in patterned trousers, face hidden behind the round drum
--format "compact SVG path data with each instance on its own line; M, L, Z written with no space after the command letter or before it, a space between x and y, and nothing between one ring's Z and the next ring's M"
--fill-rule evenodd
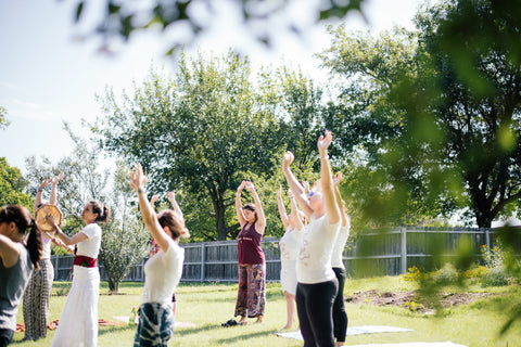
M63 179L63 172L54 179L45 179L36 194L35 214L41 207L43 189L51 183L51 197L49 204L58 204L58 183ZM42 255L39 262L40 269L33 271L29 283L24 293L24 339L37 340L47 337L47 321L49 319L49 299L51 297L52 282L54 281L54 268L51 262L51 242L56 246L65 246L63 242L47 231L41 232L43 244Z

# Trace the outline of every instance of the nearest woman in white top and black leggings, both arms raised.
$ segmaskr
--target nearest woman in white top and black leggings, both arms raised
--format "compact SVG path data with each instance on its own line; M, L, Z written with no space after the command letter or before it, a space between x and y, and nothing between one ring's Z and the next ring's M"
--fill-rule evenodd
M339 281L331 267L331 253L340 228L340 210L334 197L328 147L330 131L320 136L317 147L320 154L320 180L306 196L304 188L290 169L293 153L282 159L282 172L309 220L303 231L302 247L296 262L296 309L304 346L333 347L332 308Z

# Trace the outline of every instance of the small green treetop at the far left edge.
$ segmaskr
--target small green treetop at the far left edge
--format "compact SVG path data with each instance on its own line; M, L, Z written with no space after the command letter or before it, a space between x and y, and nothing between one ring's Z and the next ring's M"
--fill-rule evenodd
M0 157L0 206L23 205L33 210L33 201L25 192L28 181L17 167L10 166Z

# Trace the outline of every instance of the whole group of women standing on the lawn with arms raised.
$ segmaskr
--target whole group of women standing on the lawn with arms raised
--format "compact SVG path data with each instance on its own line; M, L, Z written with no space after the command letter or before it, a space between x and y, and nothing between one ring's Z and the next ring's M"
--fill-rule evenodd
M281 283L287 299L287 323L294 322L295 306L304 346L343 345L347 316L343 305L345 268L342 252L350 231L345 204L339 191L342 175L331 174L328 147L330 131L320 136L320 179L312 189L301 183L290 169L294 159L287 152L282 172L288 181L291 213L288 215L278 192L278 207L285 233L280 240ZM56 204L56 185L63 175L52 180L50 204ZM179 283L183 248L180 237L188 237L182 213L169 195L174 209L155 213L144 185L147 177L138 164L130 184L137 192L143 221L149 229L153 247L145 264L145 282L139 308L139 324L135 346L166 346L174 331L175 288ZM51 180L45 180L36 198L41 204L41 192ZM244 206L243 190L251 193L254 204ZM35 210L38 206L35 206ZM238 324L247 324L247 318L262 323L266 306L266 259L262 239L266 217L260 200L251 181L242 181L236 194L236 211L241 230L238 235L239 291L234 316ZM12 339L16 327L16 309L24 295L26 339L38 339L47 334L47 312L52 286L50 243L69 247L76 245L73 284L60 318L52 346L96 346L98 339L98 297L100 273L97 259L101 246L102 229L110 211L96 201L89 202L81 213L85 222L78 233L67 236L50 217L54 231L41 233L25 207L3 206L0 210L0 347ZM26 232L29 234L26 236ZM43 241L42 241L43 240ZM30 281L29 281L30 279ZM28 284L28 285L27 285ZM296 305L295 305L296 304Z

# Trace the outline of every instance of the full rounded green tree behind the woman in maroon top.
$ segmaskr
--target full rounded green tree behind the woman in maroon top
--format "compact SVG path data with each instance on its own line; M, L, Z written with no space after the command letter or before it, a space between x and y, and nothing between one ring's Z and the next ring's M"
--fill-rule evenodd
M118 103L103 98L104 117L93 128L104 147L127 162L139 162L153 191L181 190L208 196L218 240L237 222L227 222L233 192L249 171L268 174L280 153L278 120L259 103L250 63L232 52L220 59L182 55L174 78L157 73Z

